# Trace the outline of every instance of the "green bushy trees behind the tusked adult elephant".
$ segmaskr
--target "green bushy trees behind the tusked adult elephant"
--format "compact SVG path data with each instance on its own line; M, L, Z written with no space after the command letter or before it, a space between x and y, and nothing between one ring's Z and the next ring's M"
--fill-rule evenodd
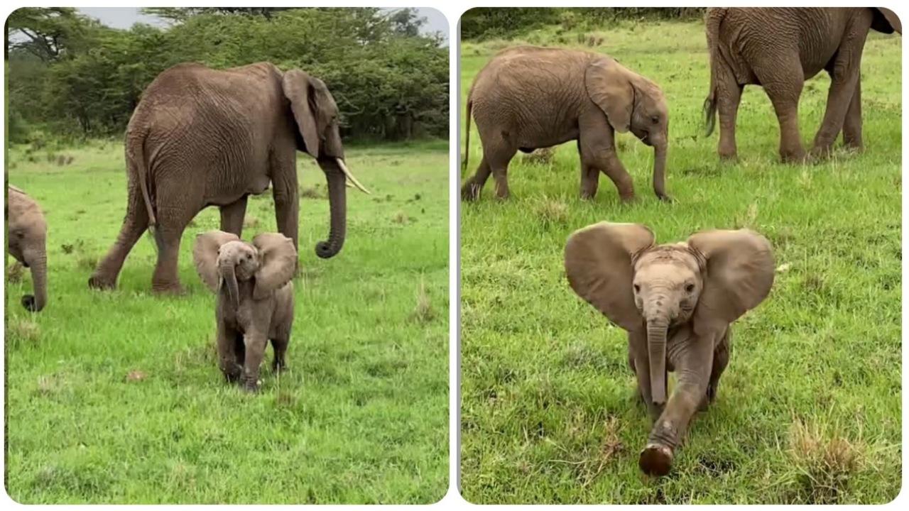
M343 135L358 141L448 136L448 49L413 9L148 8L166 26L101 25L74 8L24 7L7 19L7 129L13 143L119 136L167 67L270 61L331 89Z

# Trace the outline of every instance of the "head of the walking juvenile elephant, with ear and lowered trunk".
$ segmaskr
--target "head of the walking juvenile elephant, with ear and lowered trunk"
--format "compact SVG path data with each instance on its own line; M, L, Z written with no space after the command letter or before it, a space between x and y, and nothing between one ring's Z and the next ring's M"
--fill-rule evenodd
M603 110L619 133L631 131L654 148L654 192L665 194L666 152L669 145L669 108L659 85L614 59L601 56L584 73L587 95Z

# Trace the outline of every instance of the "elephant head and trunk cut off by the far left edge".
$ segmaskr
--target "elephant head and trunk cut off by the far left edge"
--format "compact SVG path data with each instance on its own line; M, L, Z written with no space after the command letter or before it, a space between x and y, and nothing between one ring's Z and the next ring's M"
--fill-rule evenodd
M47 305L47 221L35 199L10 185L6 196L9 215L6 239L9 253L16 261L31 269L34 295L22 297L22 306L39 312Z

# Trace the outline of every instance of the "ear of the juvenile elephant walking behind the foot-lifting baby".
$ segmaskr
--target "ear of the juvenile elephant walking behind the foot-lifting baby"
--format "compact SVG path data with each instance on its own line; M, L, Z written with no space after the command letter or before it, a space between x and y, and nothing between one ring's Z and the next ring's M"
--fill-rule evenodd
M634 88L628 70L611 58L594 60L584 73L587 95L603 110L609 124L619 133L631 128L634 110Z

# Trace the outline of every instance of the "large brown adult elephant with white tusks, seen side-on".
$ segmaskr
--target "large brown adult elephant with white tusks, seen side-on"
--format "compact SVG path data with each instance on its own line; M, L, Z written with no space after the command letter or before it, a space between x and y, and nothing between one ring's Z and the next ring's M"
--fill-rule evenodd
M177 255L186 225L202 209L221 210L221 230L242 235L249 195L273 186L278 231L297 248L296 151L315 158L328 181L331 231L315 245L328 258L345 242L345 165L338 108L322 80L299 69L256 63L215 70L180 64L145 90L126 128L126 216L114 246L88 280L113 288L126 255L152 228L155 293L180 294Z

